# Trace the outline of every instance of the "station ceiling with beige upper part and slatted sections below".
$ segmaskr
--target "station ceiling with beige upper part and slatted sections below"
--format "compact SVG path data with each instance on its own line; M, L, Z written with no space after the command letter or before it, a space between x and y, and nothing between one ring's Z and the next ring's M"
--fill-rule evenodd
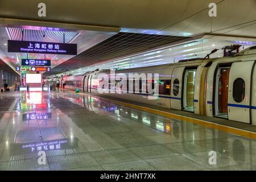
M41 2L46 3L46 17L38 16L38 4ZM212 2L217 4L217 16L211 18L208 6ZM26 40L44 40L42 35L47 34L48 40L61 42L61 34L67 32L71 36L69 42L77 43L80 55L75 57L46 55L52 59L52 70L56 72L119 59L125 54L157 47L168 41L185 41L184 37L218 34L224 41L225 36L254 39L255 10L255 0L63 0L61 3L0 0L0 59L14 68L19 65L20 57L26 57L21 53L8 53L4 46L7 39L16 39L17 36L20 39L21 30L28 32ZM11 30L14 31L12 34ZM122 44L124 41L127 44L116 46L118 43L114 43L113 38L118 40L123 35L130 35L129 39L122 40ZM156 43L147 47L144 40L151 35ZM164 36L170 37L161 42ZM131 47L137 39L135 47ZM113 44L105 44L108 42ZM102 47L106 51L102 51ZM114 48L121 49L113 52ZM92 57L90 53L98 55ZM40 54L28 56L44 57Z

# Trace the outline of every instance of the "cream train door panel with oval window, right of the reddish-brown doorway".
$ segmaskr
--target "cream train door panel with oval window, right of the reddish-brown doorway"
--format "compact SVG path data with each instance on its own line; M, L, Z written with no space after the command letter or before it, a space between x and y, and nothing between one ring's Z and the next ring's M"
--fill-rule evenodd
M251 71L254 61L232 64L229 74L228 119L250 123Z

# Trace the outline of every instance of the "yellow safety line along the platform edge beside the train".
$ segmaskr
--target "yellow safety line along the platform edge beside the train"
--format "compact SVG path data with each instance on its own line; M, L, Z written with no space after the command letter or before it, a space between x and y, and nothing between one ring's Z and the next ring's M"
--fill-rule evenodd
M94 96L94 95L89 94L89 93L77 93L77 94L88 94L88 95L91 95L93 97L100 97L100 96ZM220 125L218 123L213 123L213 122L204 121L204 120L201 120L201 119L195 119L195 118L186 117L184 115L168 113L166 111L151 109L149 107L138 106L138 105L129 104L129 103L126 103L126 102L121 102L121 101L115 101L115 100L112 100L110 98L105 98L105 97L100 97L100 98L103 99L103 100L112 101L113 103L118 104L118 105L122 105L122 106L126 106L126 107L131 107L133 109L146 111L146 112L152 113L152 114L163 115L164 117L167 117L167 118L174 118L174 119L179 119L179 120L182 120L182 121L196 123L196 124L199 124L199 125L202 125L202 126L205 126L205 127L210 127L212 129L216 129L216 130L220 130L220 131L225 131L226 133L232 133L232 134L241 135L243 137L247 137L247 138L251 138L251 139L256 139L256 133L254 133L253 131L236 129L234 127Z

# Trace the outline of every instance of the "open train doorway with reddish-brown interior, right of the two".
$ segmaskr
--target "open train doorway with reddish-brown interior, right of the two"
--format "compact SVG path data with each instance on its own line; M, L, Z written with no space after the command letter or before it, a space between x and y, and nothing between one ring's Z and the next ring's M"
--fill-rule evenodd
M214 115L228 118L230 67L218 68L215 83Z

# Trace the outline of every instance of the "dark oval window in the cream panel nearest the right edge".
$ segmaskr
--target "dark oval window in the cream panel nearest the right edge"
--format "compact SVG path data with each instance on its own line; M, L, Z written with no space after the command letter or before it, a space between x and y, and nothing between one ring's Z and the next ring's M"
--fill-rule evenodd
M245 98L245 81L237 78L233 83L233 98L236 102L242 102Z

